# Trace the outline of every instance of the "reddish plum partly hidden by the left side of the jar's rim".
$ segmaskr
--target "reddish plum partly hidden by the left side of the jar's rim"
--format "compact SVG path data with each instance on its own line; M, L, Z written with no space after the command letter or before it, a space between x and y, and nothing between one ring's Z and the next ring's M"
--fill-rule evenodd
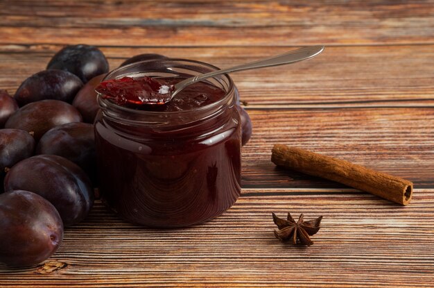
M72 105L83 115L83 120L86 123L94 123L96 113L98 113L99 105L96 101L96 86L101 83L107 74L98 75L87 82L83 88L78 91Z

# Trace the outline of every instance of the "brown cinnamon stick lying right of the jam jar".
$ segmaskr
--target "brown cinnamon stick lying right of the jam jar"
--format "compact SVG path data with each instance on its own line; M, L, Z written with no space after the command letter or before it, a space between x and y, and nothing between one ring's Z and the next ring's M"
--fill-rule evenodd
M278 166L333 180L401 205L410 203L413 194L413 183L408 180L304 149L275 144L271 161Z

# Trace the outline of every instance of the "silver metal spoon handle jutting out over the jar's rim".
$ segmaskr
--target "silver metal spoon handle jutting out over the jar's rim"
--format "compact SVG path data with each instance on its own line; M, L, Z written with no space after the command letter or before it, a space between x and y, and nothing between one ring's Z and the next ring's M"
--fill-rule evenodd
M243 71L248 69L257 69L257 68L264 68L264 67L272 67L272 66L278 66L278 65L286 65L293 62L298 62L302 60L306 60L312 57L317 56L319 53L321 53L324 50L324 46L307 46L303 47L294 51L289 51L287 53L281 54L279 56L272 56L270 58L266 58L259 61L250 62L243 65L238 65L235 67L229 67L226 69L221 69L217 71L211 71L209 73L200 74L198 76L194 76L191 78L187 78L184 81L181 81L180 83L177 83L175 85L175 89L173 90L172 97L177 94L180 90L184 89L187 85L191 85L193 83L202 81L206 78L210 78L216 75L220 74L227 74L235 71Z

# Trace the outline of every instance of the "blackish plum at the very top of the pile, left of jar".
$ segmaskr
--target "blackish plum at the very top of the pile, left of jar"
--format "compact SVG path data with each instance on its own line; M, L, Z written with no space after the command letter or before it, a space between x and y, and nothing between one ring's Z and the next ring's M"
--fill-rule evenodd
M87 83L95 76L107 73L109 65L103 52L95 46L84 44L70 45L51 58L46 69L69 71Z

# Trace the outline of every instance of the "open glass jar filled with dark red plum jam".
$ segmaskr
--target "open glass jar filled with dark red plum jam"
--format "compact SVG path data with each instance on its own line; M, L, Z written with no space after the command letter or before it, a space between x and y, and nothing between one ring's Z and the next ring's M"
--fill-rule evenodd
M214 71L204 62L158 59L115 69L123 76L188 78ZM181 227L225 212L241 193L241 123L234 83L207 83L220 101L191 110L151 112L119 106L98 95L95 122L101 197L119 217L150 227Z

